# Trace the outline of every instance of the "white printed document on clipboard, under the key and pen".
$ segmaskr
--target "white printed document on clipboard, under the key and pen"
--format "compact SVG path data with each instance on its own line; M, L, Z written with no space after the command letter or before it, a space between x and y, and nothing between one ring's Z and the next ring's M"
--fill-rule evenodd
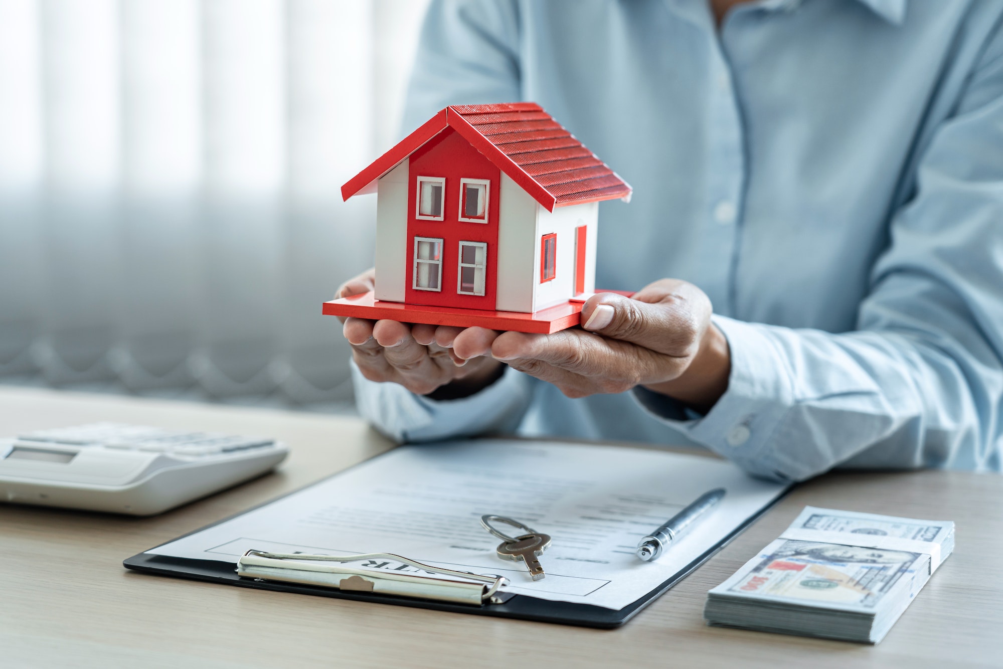
M640 539L715 487L724 499L659 560ZM504 591L622 609L758 514L785 485L701 455L623 446L480 439L401 446L237 518L147 551L234 563L248 550L393 553L436 567L503 575ZM480 527L506 516L550 535L530 578L499 559ZM498 525L503 532L517 532ZM411 572L391 561L353 567Z

